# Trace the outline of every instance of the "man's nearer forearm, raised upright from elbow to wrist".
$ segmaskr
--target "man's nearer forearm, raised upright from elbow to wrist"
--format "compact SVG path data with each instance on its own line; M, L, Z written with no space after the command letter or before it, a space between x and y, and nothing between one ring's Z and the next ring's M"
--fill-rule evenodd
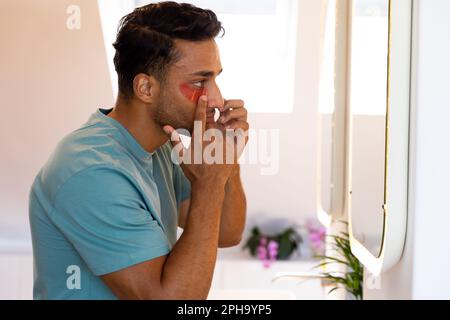
M192 187L183 235L163 268L161 287L167 298L207 298L217 258L224 197L224 187Z

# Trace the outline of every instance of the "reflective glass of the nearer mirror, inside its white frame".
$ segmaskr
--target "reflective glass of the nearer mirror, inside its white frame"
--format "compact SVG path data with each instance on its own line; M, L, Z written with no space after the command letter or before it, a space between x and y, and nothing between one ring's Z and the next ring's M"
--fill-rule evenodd
M349 209L354 237L379 257L386 199L389 0L353 0L351 21Z

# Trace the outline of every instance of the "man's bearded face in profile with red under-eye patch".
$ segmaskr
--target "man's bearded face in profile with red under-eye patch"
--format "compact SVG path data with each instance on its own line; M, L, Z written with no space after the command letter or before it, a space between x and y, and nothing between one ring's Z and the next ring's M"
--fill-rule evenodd
M197 101L202 93L207 93L208 110L223 107L222 94L216 84L216 77L222 72L219 49L214 40L177 40L175 45L181 58L167 70L156 122L192 132Z

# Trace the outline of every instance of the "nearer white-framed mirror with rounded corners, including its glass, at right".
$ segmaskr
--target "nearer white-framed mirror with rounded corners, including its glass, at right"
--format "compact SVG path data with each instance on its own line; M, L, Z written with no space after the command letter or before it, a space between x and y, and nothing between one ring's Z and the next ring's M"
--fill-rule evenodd
M410 0L353 0L349 45L348 213L353 253L374 274L406 233Z

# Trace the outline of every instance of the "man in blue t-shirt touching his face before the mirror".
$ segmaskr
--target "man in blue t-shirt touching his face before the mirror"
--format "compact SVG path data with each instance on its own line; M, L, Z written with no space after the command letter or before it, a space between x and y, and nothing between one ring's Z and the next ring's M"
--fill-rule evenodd
M171 159L173 147L179 159L195 158L220 142L204 141L205 129L248 131L243 102L224 100L215 82L221 31L212 11L189 4L151 4L124 17L114 109L63 139L32 186L36 299L207 297L217 248L241 240L240 168ZM178 129L191 132L189 149L180 148ZM236 160L231 141L224 145Z

